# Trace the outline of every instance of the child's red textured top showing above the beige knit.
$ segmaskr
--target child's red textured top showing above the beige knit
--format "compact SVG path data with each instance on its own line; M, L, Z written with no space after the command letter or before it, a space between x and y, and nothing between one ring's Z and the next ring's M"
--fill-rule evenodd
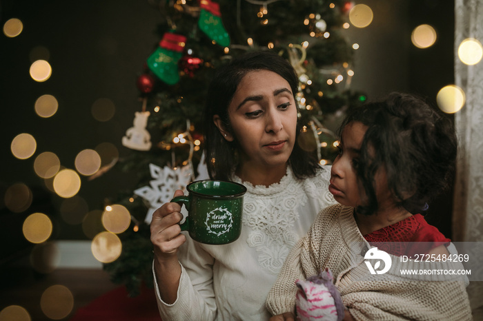
M372 246L395 256L426 254L440 245L447 245L446 238L436 227L429 225L421 214L373 231L364 236Z

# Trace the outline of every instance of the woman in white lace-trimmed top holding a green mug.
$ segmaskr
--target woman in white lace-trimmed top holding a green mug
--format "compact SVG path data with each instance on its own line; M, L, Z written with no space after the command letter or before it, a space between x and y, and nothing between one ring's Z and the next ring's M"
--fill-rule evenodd
M234 59L210 83L208 173L247 187L242 235L228 245L204 245L180 234L178 204L155 211L153 271L163 320L270 318L264 302L290 248L335 202L320 192L327 191L330 169L296 144L297 86L292 66L269 52Z

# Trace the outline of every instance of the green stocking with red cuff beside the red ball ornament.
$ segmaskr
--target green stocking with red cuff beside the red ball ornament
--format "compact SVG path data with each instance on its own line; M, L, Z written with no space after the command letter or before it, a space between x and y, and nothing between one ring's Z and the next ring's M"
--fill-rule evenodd
M148 58L148 67L168 85L179 81L178 61L183 55L186 37L166 32L159 47Z

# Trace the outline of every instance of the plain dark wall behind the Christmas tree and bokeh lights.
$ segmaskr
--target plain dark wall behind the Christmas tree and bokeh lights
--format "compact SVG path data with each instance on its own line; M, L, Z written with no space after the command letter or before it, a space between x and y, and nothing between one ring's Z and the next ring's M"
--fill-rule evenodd
M414 92L435 103L437 91L453 83L453 1L356 3L370 6L374 20L368 28L348 30L351 40L360 45L353 89L366 92L370 99L394 90ZM77 153L99 143L117 145L121 156L129 152L121 137L132 126L134 112L141 109L136 80L159 41L155 30L162 15L146 0L1 1L1 25L12 17L21 19L23 32L12 39L0 35L0 224L8 224L17 234L21 218L35 207L58 216L61 199L46 191L34 173L34 156L55 152L61 165L74 168ZM421 23L433 25L438 34L435 45L424 50L411 44L411 32ZM39 46L48 50L46 60L52 66L52 76L44 83L29 75L30 53ZM59 101L51 118L34 112L34 102L43 94ZM91 114L92 103L101 98L115 105L115 116L107 122L96 121ZM23 161L10 152L12 139L22 132L37 140L36 154ZM31 187L34 203L28 213L12 216L2 203L3 193L17 182ZM111 170L95 180L82 177L79 196L90 210L101 209L105 198L134 186L133 175ZM447 236L451 236L451 200L449 191L428 215ZM56 228L55 238L85 238L78 226L66 225L60 218L57 224L61 228Z

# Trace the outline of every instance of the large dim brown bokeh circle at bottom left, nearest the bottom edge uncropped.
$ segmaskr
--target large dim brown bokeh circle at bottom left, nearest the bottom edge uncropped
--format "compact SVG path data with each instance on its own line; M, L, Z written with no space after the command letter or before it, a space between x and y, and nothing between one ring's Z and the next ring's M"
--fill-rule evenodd
M43 291L40 307L48 318L60 320L66 318L74 307L74 296L67 287L57 284Z

